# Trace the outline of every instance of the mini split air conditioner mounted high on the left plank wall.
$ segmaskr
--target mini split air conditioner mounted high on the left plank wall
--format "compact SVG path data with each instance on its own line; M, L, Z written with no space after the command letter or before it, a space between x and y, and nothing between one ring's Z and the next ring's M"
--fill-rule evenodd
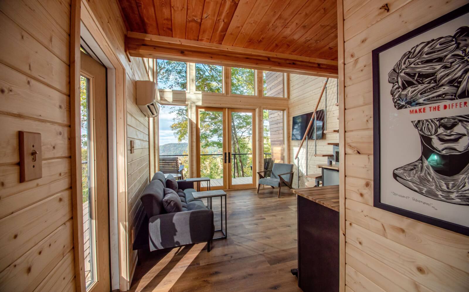
M159 92L153 81L137 80L137 106L146 117L159 114Z

